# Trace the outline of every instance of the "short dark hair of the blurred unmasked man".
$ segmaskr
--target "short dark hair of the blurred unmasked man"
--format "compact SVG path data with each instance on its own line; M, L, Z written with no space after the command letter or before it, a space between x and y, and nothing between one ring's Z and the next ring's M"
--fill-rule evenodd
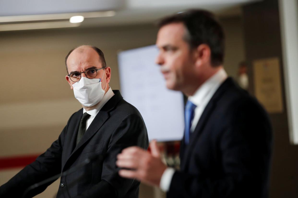
M195 9L168 16L159 21L161 28L170 23L183 23L187 33L184 40L191 48L207 44L211 50L212 66L219 66L224 61L224 31L212 13Z

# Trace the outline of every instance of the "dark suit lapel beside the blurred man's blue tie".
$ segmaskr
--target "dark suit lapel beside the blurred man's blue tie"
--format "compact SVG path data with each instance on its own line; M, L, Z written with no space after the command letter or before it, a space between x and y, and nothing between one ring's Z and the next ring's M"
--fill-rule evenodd
M182 154L183 160L181 160L181 170L185 170L186 165L189 161L190 155L192 153L193 147L195 146L195 143L197 142L200 134L204 130L204 126L207 123L208 118L210 117L211 113L216 107L216 101L220 98L222 93L233 83L232 78L227 78L224 83L220 85L218 90L215 92L215 94L212 96L210 101L208 102L207 106L205 107L197 126L195 127L195 130L192 134L192 137L190 139L190 143L188 145L184 145L184 153Z

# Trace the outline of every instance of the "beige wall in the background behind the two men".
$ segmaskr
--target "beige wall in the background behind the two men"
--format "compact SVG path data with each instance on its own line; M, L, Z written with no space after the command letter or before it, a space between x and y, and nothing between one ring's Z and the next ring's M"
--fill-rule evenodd
M244 59L242 21L236 17L221 22L226 70L235 76ZM0 157L43 153L81 108L65 80L64 58L70 49L83 44L102 49L112 70L110 86L119 89L117 52L153 45L156 32L153 25L1 32ZM0 185L18 170L0 170ZM58 185L56 181L37 197L53 197ZM142 186L140 197L160 197L159 191L149 189Z

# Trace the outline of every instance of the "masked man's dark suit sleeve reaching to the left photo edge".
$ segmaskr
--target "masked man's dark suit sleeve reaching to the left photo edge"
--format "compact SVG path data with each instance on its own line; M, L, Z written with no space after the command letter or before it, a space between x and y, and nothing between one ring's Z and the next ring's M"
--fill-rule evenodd
M46 152L0 187L0 197L22 197L28 187L61 172L61 155L67 126ZM30 190L26 197L34 197L43 192L54 181Z

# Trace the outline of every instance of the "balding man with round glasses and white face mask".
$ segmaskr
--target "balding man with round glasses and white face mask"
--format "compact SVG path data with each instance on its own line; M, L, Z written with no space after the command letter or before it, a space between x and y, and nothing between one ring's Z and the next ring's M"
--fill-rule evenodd
M139 182L119 177L116 156L123 148L148 148L148 134L139 111L109 86L111 68L103 52L80 46L65 58L66 80L83 108L67 122L58 140L0 187L0 197L21 197L29 186L94 159L60 179L57 197L138 197ZM34 187L41 193L54 182Z

